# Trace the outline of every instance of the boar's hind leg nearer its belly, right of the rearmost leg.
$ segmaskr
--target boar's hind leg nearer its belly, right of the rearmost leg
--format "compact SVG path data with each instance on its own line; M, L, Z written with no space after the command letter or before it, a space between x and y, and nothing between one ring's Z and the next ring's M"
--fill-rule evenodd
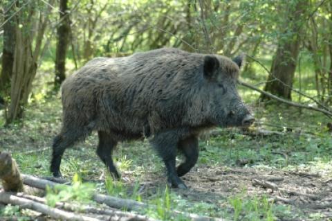
M112 159L113 148L116 147L116 141L111 139L111 136L107 132L98 131L99 144L97 148L97 154L100 159L105 163L109 169L109 173L113 179L120 179L120 174L114 166Z

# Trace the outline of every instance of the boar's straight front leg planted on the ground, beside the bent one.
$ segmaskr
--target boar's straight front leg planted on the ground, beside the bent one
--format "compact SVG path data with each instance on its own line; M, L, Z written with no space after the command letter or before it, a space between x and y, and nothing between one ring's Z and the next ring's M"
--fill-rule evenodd
M178 133L176 131L167 131L155 134L151 139L151 144L157 150L163 159L166 169L168 182L174 188L187 188L183 181L178 177L176 171L176 149L178 143Z

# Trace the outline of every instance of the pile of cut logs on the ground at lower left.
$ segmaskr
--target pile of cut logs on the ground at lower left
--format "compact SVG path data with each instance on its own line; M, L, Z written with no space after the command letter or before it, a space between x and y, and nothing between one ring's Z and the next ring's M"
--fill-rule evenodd
M55 207L48 206L44 197L30 195L29 188L37 188L45 191L46 186L54 188L55 185L70 185L62 179L43 179L31 175L19 173L15 160L10 154L0 152L0 203L19 206L20 209L29 209L42 213L55 220L155 220L146 215L134 212L142 212L150 209L156 211L156 206L137 202L135 200L122 199L109 195L95 193L93 205L77 205L71 202L57 202ZM24 185L23 185L24 184ZM124 209L126 211L124 211ZM182 211L169 211L170 215L181 215L187 220L221 220Z

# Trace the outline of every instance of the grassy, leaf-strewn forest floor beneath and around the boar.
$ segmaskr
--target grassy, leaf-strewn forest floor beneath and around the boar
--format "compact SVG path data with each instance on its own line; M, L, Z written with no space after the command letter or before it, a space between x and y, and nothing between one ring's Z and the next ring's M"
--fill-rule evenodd
M219 129L203 137L199 162L183 177L187 190L166 187L163 163L146 140L118 145L113 156L122 173L120 182L111 181L95 154L96 134L66 150L62 175L68 180L78 175L99 193L160 207L169 201L172 210L226 220L331 220L329 119L284 105L252 106L259 122L253 129L279 133L246 135L237 129ZM61 126L61 112L59 95L34 94L23 123L0 127L0 151L12 152L22 173L50 176L50 146ZM48 195L64 200L57 193ZM178 220L165 211L144 213ZM33 219L15 206L3 207L0 214Z

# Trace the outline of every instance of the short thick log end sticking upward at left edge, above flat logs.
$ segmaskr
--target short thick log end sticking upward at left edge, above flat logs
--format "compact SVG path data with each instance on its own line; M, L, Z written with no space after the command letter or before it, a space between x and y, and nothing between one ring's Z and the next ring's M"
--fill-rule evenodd
M23 183L15 159L8 152L0 152L0 179L5 191L23 191Z

